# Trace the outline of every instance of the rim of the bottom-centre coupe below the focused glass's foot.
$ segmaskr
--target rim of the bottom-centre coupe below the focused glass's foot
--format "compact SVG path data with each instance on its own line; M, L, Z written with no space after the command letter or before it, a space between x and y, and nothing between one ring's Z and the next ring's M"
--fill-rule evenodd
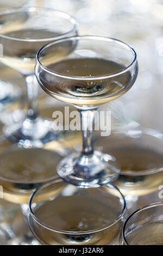
M112 225L116 224L122 217L123 215L125 214L126 212L126 200L124 199L124 196L123 194L121 193L121 191L113 184L106 184L105 186L110 186L111 188L114 188L118 191L118 193L120 194L121 196L121 199L123 200L123 209L121 211L121 214L118 215L118 217L110 222L110 224L107 226L107 227L104 227L104 228L98 228L98 229L93 229L93 230L87 230L87 231L67 231L67 230L61 230L61 229L58 229L58 228L54 228L54 227L51 227L50 225L47 225L43 222L41 222L35 215L34 215L34 212L32 210L32 200L35 196L35 194L39 191L39 190L42 190L44 189L45 187L49 186L49 185L52 185L56 182L60 182L60 181L63 181L62 179L56 179L56 180L53 180L51 182L48 182L38 188L36 188L36 190L30 195L30 199L29 199L29 203L28 203L28 207L29 207L29 215L28 215L28 221L29 221L29 217L31 216L34 221L36 221L38 224L40 224L43 228L46 228L48 230L51 230L51 231L54 231L54 232L57 232L57 233L61 233L61 234L87 234L87 233L95 233L95 232L98 232L98 231L102 231L102 230L105 230L105 229L108 229L110 228ZM65 182L65 181L64 181ZM66 183L66 182L65 182ZM68 184L68 183L67 183ZM75 186L75 185L74 185ZM99 187L97 187L99 188ZM84 188L83 189L87 189L87 188Z

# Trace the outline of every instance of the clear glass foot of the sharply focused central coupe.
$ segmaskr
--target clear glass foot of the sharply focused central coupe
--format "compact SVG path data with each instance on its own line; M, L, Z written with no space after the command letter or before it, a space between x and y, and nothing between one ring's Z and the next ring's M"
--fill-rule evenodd
M120 167L115 157L95 151L91 156L71 154L61 160L57 172L73 185L98 187L117 179Z

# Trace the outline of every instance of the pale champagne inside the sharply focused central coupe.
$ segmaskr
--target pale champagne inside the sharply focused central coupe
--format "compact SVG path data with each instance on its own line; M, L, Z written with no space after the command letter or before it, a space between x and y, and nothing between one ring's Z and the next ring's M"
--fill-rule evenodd
M54 58L55 61L55 58ZM60 101L79 106L96 106L122 96L132 85L130 71L111 78L99 78L121 72L125 66L101 58L65 59L47 66L48 69L65 76L62 78L42 70L39 75L42 88ZM82 80L82 77L92 78Z

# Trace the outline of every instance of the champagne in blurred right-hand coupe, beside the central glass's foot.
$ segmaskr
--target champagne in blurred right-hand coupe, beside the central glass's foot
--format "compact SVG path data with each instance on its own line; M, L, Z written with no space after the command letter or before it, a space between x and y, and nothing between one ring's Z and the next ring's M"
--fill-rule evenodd
M124 196L143 196L157 191L163 184L163 172L155 172L163 166L161 153L148 148L122 147L112 149L111 154L121 164L123 173L114 184ZM153 173L150 174L150 170L153 170ZM130 171L130 174L127 174L127 171ZM145 174L142 175L142 172Z

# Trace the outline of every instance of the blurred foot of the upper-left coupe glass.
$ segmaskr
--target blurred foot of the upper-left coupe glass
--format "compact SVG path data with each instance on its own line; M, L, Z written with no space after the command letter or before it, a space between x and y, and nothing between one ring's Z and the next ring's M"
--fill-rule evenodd
M52 129L52 121L41 118L33 121L26 119L20 123L4 126L3 132L12 143L18 143L25 148L40 148L59 136L59 132Z

